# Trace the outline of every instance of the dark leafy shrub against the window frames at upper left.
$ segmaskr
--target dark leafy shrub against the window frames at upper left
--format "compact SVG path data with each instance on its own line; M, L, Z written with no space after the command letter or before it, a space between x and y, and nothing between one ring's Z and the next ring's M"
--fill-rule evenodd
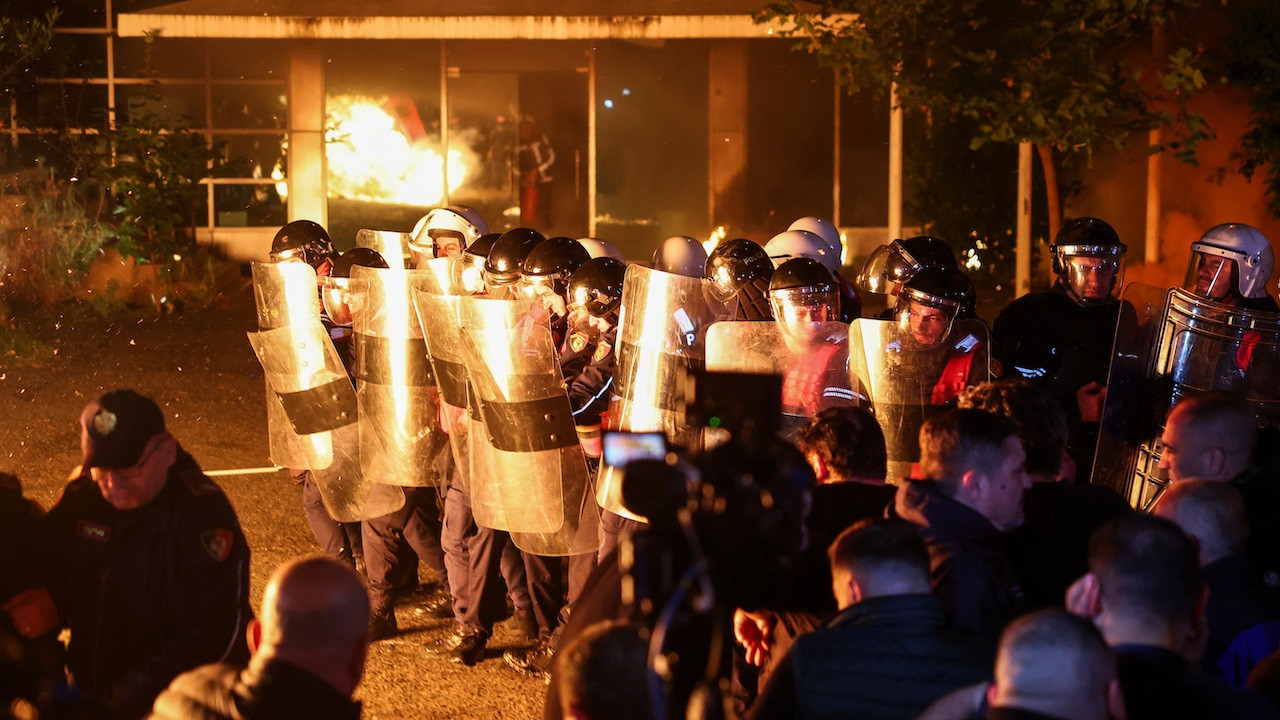
M220 161L205 136L173 124L131 99L128 120L90 141L90 182L111 190L113 245L120 255L165 261L195 247L205 190L200 179Z

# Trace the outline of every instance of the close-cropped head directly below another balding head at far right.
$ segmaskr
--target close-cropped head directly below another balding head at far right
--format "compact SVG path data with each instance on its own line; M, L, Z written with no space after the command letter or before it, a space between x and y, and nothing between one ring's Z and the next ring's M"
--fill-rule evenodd
M1244 552L1249 539L1244 498L1230 483L1174 483L1160 496L1156 515L1171 520L1196 541L1201 568Z

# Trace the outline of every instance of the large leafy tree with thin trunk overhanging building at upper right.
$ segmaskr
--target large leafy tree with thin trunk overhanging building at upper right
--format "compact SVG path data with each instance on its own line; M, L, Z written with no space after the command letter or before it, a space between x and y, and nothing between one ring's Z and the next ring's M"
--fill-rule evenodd
M1185 109L1204 85L1196 53L1179 49L1143 78L1135 38L1148 38L1198 0L801 0L771 4L797 47L837 68L852 90L896 87L904 108L954 114L970 147L1030 142L1044 172L1050 232L1061 224L1056 156L1115 146L1169 127L1194 161L1210 136Z

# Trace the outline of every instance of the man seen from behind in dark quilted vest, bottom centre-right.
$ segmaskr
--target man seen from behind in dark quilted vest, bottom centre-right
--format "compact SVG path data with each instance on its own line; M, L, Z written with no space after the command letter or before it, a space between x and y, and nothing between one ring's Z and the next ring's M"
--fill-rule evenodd
M753 720L915 717L931 702L984 679L991 648L948 628L929 592L929 555L906 523L867 520L831 546L841 612L801 635Z

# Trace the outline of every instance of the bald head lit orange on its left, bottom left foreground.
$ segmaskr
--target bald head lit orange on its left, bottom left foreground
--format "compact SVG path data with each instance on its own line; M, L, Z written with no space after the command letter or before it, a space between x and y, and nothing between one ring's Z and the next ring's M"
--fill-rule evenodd
M355 691L369 646L369 592L340 562L306 557L271 575L256 660L279 659Z

